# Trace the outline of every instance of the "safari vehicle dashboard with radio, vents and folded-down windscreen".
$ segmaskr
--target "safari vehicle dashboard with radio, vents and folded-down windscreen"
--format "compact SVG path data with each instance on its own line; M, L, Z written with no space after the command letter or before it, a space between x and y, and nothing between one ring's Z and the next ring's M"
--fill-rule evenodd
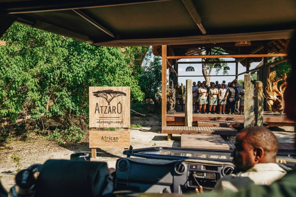
M124 154L127 157L116 163L115 190L181 194L202 185L210 191L221 177L234 171L231 151L225 150L154 147L130 148ZM278 154L277 158L295 169L295 156Z

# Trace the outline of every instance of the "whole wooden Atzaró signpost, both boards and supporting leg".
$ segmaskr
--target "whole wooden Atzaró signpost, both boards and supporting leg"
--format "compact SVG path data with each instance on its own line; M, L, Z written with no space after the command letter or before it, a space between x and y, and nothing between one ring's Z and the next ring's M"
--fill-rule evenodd
M130 146L130 87L89 87L89 147L91 158L96 148ZM123 128L123 131L96 131L96 128Z

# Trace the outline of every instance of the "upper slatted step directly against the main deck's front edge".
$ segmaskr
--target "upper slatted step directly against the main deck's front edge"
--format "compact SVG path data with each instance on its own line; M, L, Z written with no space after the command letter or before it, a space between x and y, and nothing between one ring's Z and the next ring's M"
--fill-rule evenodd
M205 127L244 127L244 121L197 121L197 126ZM269 127L268 123L263 123L264 127Z

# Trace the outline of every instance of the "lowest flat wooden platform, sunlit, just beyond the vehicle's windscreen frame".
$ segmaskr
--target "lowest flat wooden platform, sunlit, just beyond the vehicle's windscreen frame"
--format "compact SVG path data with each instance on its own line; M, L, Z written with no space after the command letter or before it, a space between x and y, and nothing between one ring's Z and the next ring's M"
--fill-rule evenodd
M219 135L182 134L181 148L229 150L229 145Z

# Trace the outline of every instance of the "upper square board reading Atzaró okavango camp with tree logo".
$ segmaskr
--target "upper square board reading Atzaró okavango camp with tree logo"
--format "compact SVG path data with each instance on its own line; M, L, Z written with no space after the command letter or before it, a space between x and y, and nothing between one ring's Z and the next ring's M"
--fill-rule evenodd
M130 87L89 87L89 127L130 127Z

